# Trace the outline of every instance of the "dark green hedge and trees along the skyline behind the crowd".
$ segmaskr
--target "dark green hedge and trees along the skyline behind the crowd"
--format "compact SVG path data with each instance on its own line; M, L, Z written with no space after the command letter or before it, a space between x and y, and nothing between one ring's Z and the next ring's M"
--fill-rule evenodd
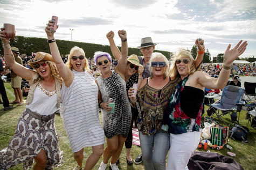
M92 58L95 51L104 51L109 54L112 54L110 46L103 46L95 43L86 43L86 42L75 42L75 41L66 41L66 40L56 40L60 54L66 55L70 54L70 49L74 46L78 46L85 51L86 57ZM10 40L10 45L19 48L20 54L31 55L31 53L36 53L37 51L44 51L45 53L51 53L50 48L45 38L33 38L33 37L25 37L25 36L15 36L14 39ZM121 49L121 47L118 47ZM193 58L197 56L197 47L193 45L190 54ZM170 60L170 57L174 55L174 53L169 51L155 50L156 52L162 53L165 57ZM3 55L3 50L0 51ZM142 56L141 50L139 48L129 48L128 55L136 54L138 56ZM222 63L223 62L223 53L218 54L216 57L213 57L213 63ZM256 58L246 57L246 58L238 58L237 60L246 60L248 62L256 61ZM205 50L203 63L211 62L211 54L208 49Z

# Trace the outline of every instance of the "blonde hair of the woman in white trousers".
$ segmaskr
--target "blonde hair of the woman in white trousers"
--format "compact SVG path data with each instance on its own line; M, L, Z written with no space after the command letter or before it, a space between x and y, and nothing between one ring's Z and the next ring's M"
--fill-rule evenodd
M179 49L178 53L175 53L173 57L171 57L171 66L170 66L170 75L171 77L178 77L179 73L178 73L178 69L176 66L176 60L181 59L181 58L188 58L189 59L189 72L188 74L191 75L192 73L194 73L196 71L195 68L195 60L192 57L192 55L189 53L188 50L186 49Z

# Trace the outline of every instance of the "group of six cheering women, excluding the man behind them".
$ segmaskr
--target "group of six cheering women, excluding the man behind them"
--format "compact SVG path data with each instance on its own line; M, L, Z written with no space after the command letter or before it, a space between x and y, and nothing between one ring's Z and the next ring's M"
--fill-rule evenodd
M142 80L143 66L139 64L137 56L127 58L127 34L120 30L119 63L112 71L112 57L108 53L95 52L94 61L101 76L94 81L81 48L73 47L67 64L63 63L52 26L50 20L45 28L51 55L38 52L30 62L34 70L15 62L9 38L1 28L0 38L6 63L18 76L29 80L30 91L15 135L8 147L0 151L0 169L8 169L22 162L24 168L30 168L33 159L36 161L34 169L53 169L64 163L54 125L54 113L59 107L77 162L74 169L82 169L86 146L92 146L93 152L84 169L92 169L102 154L99 169L106 169L110 158L110 168L118 169L115 162L119 159L131 127L130 103L139 113L137 125L145 169L165 169L169 148L167 169L185 169L199 143L204 87L223 88L230 75L231 63L243 54L247 46L246 41L240 41L231 50L231 45L227 47L219 78L196 71L198 62L184 49L172 58L170 68L164 55L153 53L149 61L151 77ZM108 36L112 36L112 33L108 33ZM197 39L196 45L202 55L204 41ZM140 85L134 97L132 87L127 95L126 84L136 72L139 72ZM190 100L191 97L193 100ZM114 107L109 107L110 100ZM104 135L107 137L105 150Z

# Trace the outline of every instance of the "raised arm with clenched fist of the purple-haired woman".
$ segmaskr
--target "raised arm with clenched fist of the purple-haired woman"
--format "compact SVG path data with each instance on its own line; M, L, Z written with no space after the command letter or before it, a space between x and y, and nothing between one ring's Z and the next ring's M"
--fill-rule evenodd
M127 65L127 55L128 55L128 45L127 45L127 35L126 31L119 30L118 35L122 41L121 46L121 58L116 66L115 71L119 73L122 78L124 79L124 73L126 72L126 65Z

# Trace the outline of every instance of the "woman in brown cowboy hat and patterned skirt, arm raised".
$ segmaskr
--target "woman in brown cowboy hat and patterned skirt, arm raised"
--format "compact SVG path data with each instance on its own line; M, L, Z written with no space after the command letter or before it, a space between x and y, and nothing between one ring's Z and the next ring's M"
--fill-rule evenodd
M30 62L34 70L27 69L14 60L9 39L4 28L0 38L8 66L20 77L29 80L30 91L26 110L19 118L15 135L8 147L0 151L0 169L8 169L24 162L24 168L53 169L64 163L63 152L54 125L54 113L60 106L62 79L52 56L37 52Z

